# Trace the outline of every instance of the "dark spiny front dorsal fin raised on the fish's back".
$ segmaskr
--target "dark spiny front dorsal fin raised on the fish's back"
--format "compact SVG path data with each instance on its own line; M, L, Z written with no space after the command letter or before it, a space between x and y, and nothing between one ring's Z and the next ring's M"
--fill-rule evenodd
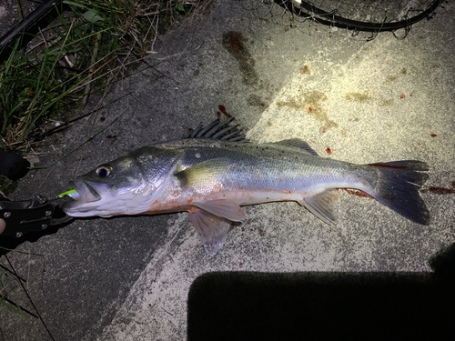
M238 125L230 125L232 120L234 117L223 122L217 118L207 126L199 124L194 130L188 129L183 138L216 138L230 142L248 142L247 137L242 133L242 129L238 129Z

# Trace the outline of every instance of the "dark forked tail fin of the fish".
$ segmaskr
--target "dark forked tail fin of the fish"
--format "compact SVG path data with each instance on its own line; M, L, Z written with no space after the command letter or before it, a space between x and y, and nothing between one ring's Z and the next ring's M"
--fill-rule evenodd
M429 170L427 164L407 160L369 165L379 171L378 186L370 196L415 223L430 224L430 212L419 194L420 186L429 177L420 173Z

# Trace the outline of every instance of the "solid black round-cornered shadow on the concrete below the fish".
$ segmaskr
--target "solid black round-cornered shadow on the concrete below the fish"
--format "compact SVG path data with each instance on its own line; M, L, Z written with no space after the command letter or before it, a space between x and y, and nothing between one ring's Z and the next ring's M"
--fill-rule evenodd
M197 277L187 339L443 339L453 332L455 245L434 273L245 273Z

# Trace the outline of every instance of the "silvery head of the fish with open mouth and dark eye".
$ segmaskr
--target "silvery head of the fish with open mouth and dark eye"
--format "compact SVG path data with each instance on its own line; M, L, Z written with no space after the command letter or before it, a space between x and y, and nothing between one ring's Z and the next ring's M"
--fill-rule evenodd
M147 212L173 176L178 151L144 147L98 165L70 184L74 199L62 206L69 216L121 216ZM75 193L76 191L76 193Z

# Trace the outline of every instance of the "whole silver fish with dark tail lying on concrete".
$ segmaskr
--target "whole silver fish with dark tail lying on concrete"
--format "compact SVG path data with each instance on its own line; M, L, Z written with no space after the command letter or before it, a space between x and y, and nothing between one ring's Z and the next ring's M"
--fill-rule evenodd
M147 145L97 166L71 183L68 216L157 215L187 211L209 256L241 225L241 206L296 201L337 223L339 188L365 192L410 221L430 224L420 196L429 166L418 160L366 165L321 157L292 138L256 144L234 117L198 125L181 139Z

